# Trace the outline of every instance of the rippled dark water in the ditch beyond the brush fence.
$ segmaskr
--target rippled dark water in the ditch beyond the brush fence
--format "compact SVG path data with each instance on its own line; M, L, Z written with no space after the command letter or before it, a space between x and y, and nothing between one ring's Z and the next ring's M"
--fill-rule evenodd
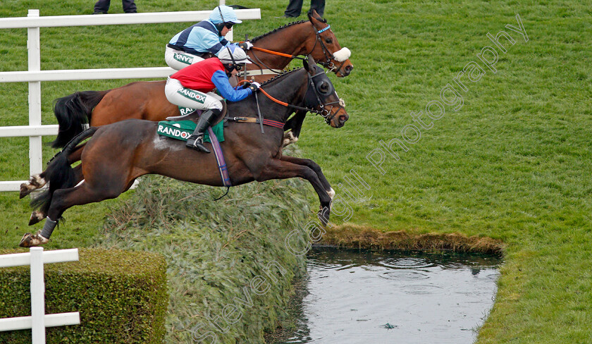
M314 249L295 328L268 343L473 343L501 260L468 254Z

